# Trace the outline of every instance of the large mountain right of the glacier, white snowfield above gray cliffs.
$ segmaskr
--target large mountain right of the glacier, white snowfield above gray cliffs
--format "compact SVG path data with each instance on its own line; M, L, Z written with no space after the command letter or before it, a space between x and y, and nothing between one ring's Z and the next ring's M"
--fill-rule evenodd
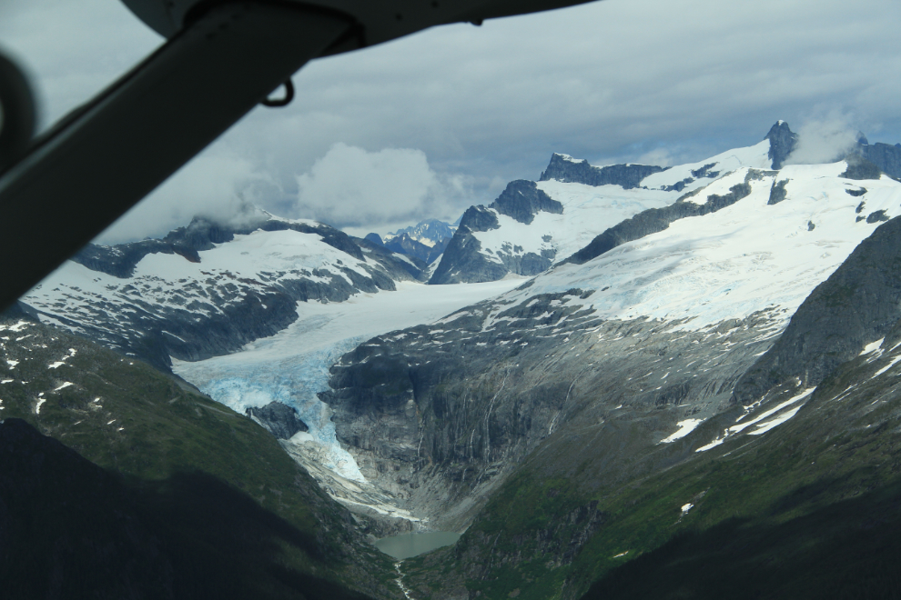
M901 184L858 166L735 168L515 290L360 345L321 395L339 441L404 510L456 528L558 429L642 423L636 457L682 439L732 409L797 307L901 215Z

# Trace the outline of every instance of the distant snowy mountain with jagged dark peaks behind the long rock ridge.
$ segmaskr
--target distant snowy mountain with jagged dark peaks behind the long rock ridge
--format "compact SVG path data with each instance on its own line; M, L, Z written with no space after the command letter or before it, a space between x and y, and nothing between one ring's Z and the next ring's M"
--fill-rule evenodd
M779 121L757 145L689 165L599 167L552 155L537 183L511 182L491 205L466 211L430 283L537 275L582 250L599 232L643 211L673 205L737 169L779 169L796 144L797 135ZM886 168L901 160L901 149L895 157L895 146L876 146L859 145L857 152L873 155Z

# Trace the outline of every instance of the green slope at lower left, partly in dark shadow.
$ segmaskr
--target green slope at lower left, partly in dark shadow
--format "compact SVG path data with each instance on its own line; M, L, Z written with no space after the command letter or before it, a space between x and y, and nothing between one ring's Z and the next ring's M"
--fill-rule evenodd
M397 595L262 427L73 335L0 329L4 597Z

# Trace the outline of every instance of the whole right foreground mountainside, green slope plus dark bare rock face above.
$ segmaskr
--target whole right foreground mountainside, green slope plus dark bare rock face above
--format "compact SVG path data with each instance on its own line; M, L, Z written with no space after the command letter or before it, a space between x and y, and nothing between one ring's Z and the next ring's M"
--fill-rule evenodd
M899 227L798 309L757 363L788 356L785 373L751 377L754 402L672 444L622 419L563 426L458 545L405 564L408 585L422 598L901 597ZM850 290L840 305L835 289Z

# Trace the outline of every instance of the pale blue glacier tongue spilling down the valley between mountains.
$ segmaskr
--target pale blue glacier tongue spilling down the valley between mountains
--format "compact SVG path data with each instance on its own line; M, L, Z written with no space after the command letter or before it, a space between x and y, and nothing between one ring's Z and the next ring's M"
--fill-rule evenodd
M277 335L232 355L197 362L174 359L172 369L241 414L273 401L291 406L309 427L307 435L296 436L300 444L295 446L314 445L308 454L315 454L319 465L344 480L365 484L353 456L339 444L329 406L319 400L319 392L329 387L329 367L370 337L433 322L509 292L524 279L511 276L452 286L400 283L396 292L360 293L341 303L299 302L300 318ZM348 501L343 495L337 499Z

